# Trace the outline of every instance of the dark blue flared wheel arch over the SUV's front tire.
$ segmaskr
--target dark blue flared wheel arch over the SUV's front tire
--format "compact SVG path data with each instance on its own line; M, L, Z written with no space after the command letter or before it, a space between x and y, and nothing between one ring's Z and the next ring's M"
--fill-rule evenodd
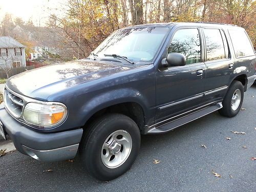
M151 109L150 106L148 97L137 90L124 88L95 95L81 106L79 114L83 114L81 124L85 129L100 115L119 113L133 119L142 131L146 123L154 120L155 108Z

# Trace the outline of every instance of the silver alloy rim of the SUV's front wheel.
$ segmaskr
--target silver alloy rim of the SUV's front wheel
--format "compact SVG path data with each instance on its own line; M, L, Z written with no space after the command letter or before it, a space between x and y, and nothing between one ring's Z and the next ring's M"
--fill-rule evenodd
M131 150L131 135L124 130L115 131L106 138L102 145L102 163L108 168L117 168L127 160Z

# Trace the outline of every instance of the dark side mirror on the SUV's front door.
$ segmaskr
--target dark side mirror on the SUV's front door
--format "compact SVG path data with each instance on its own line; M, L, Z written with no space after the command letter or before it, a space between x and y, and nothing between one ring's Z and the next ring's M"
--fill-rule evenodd
M174 67L174 66L185 66L186 57L181 53L169 53L165 59L165 66Z

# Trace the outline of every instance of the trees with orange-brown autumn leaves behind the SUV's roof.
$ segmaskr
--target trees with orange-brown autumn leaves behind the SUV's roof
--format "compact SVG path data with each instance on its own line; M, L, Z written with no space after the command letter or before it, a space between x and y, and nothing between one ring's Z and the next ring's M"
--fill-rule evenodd
M161 22L238 25L246 29L256 46L253 0L69 0L66 7L65 15L51 15L48 25L65 34L63 46L73 47L77 54L79 45L79 57L88 56L119 28Z

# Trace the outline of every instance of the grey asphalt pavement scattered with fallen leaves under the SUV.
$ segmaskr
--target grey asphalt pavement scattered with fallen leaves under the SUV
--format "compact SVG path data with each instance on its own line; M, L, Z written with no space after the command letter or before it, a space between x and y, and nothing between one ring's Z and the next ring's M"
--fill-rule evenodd
M0 191L255 191L256 86L242 107L234 118L214 113L164 135L142 136L131 170L108 183L89 176L77 160L44 163L7 154L0 158Z

